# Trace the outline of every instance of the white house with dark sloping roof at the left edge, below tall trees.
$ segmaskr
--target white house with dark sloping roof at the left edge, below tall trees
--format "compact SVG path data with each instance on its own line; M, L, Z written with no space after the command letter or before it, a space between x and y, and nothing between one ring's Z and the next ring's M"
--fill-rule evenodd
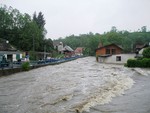
M5 39L0 39L0 54L5 55L6 59L10 62L22 58L22 52L18 51Z

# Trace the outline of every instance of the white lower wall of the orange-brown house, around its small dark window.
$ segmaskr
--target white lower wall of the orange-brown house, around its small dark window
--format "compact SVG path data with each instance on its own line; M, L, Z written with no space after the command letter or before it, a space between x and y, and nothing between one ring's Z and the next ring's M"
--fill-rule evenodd
M116 61L116 58L120 56L121 61ZM109 57L99 57L98 61L102 63L114 63L114 64L124 64L128 59L133 59L135 54L117 54Z

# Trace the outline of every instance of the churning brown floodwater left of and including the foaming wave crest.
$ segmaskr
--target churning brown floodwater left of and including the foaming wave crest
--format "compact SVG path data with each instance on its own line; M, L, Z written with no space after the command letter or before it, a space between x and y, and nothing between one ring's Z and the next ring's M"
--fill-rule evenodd
M0 113L82 113L124 94L134 81L122 65L94 57L0 78Z

